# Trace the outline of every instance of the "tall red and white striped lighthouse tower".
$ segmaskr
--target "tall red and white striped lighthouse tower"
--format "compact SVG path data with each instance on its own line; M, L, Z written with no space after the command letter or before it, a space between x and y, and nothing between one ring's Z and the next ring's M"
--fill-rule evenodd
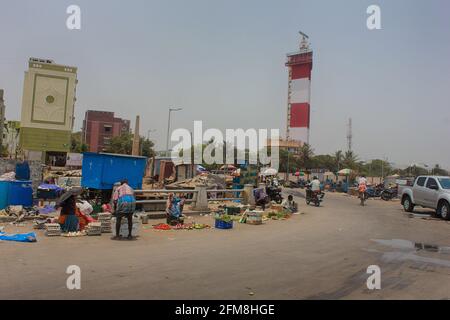
M302 32L300 34L303 37L300 51L288 54L286 62L289 69L286 137L288 140L309 143L313 52L309 48L308 36Z

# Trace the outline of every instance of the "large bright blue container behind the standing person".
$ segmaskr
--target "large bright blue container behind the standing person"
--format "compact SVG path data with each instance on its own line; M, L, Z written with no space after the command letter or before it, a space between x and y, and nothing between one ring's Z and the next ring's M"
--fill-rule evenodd
M83 154L81 186L111 190L114 183L128 179L130 187L141 189L146 165L146 157L86 152Z

